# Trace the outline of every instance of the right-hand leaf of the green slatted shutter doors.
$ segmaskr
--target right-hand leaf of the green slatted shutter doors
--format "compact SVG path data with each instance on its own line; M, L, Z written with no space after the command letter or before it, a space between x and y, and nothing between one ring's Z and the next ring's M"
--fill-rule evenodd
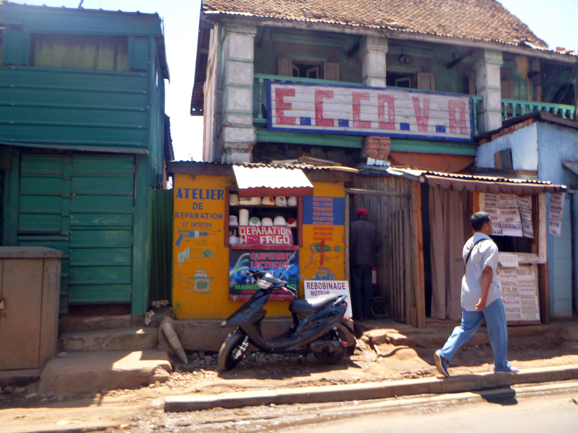
M133 156L72 160L69 303L131 301Z

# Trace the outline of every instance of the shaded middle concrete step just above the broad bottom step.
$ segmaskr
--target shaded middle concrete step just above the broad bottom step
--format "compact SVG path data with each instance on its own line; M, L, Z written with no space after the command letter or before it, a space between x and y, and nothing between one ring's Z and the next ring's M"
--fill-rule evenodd
M60 352L88 350L151 350L158 346L158 328L129 327L60 334Z

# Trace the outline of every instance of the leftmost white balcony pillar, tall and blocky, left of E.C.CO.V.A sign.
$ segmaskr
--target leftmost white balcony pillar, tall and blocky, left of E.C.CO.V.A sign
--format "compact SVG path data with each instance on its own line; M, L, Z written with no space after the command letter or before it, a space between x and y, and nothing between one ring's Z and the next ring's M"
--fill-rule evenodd
M253 43L257 28L225 25L221 162L251 162L257 141L253 126Z

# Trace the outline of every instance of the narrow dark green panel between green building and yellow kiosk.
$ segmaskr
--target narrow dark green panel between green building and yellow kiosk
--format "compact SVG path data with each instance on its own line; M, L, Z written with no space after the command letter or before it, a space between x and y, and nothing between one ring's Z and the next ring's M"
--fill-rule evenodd
M173 190L151 190L151 301L172 301Z

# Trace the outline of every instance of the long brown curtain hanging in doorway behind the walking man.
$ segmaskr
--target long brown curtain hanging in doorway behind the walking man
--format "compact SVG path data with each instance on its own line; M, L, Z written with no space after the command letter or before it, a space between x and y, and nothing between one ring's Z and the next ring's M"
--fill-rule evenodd
M432 310L436 319L461 320L460 294L465 266L462 250L470 236L468 192L429 190Z

